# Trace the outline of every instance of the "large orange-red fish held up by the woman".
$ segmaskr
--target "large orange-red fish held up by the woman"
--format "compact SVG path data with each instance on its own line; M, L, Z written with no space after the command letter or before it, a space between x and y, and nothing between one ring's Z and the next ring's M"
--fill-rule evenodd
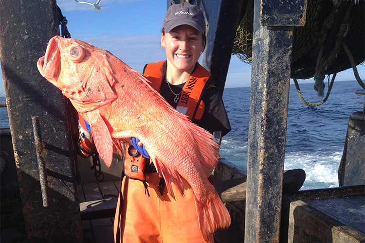
M99 155L109 167L113 145L141 140L166 188L183 194L181 176L195 195L201 233L228 227L230 215L202 166L217 165L218 144L204 129L172 108L140 73L110 52L71 38L53 37L37 62L39 72L70 99L91 125Z

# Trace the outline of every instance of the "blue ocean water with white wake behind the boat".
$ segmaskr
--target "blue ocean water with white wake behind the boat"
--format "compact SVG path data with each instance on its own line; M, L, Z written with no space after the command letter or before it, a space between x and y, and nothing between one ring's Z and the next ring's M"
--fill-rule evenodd
M326 84L328 87L328 84ZM300 84L304 98L316 103L313 84ZM364 96L356 81L334 82L325 104L308 107L302 104L291 85L284 169L303 169L306 180L301 190L338 186L337 171L344 150L349 116L362 111ZM325 93L327 92L327 88ZM0 97L0 101L5 101ZM250 109L250 87L226 88L223 101L232 131L222 140L220 156L246 170ZM8 128L6 108L0 108L0 128Z

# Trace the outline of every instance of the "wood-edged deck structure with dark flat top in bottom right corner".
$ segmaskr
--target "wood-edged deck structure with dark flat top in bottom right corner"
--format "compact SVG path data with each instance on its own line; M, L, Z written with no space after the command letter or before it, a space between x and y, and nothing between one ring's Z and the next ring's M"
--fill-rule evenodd
M365 242L365 186L284 195L284 242Z

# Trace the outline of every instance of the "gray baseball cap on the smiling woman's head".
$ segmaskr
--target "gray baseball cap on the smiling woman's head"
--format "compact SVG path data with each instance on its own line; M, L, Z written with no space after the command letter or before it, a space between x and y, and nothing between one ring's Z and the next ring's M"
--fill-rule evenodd
M188 2L182 2L180 4L173 4L168 8L162 24L165 33L184 24L194 27L201 34L205 34L205 19L200 7Z

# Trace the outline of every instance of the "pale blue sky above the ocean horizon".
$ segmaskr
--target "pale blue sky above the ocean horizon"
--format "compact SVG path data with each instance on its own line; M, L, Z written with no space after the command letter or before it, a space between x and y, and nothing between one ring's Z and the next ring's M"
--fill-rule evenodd
M71 37L106 49L132 69L142 72L146 63L166 58L160 45L166 2L102 0L100 5L103 8L99 13L91 5L74 0L57 0L57 5L68 20L67 28ZM359 65L358 69L360 77L364 78L365 66ZM233 55L225 87L248 87L250 80L251 65L244 64ZM355 80L352 69L340 72L336 76L336 81L347 80ZM314 83L312 79L299 82ZM0 86L0 96L4 96L3 85Z

